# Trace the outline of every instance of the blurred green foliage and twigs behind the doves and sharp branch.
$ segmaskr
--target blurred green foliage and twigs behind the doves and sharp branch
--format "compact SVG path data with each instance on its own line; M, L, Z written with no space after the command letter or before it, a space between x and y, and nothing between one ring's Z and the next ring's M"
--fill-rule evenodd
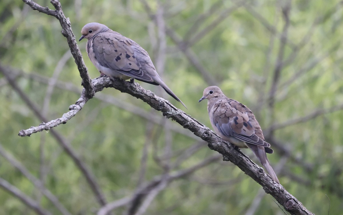
M54 7L37 0L43 7ZM315 214L343 211L343 35L338 0L61 0L76 39L99 22L140 44L164 82L139 82L211 128L203 89L256 115L281 184ZM97 214L284 214L261 186L206 142L114 88L68 123L82 91L59 21L22 1L0 1L0 211ZM86 41L78 42L92 78ZM13 81L9 81L13 80ZM212 129L212 128L211 128ZM252 152L242 150L257 164ZM259 164L260 165L260 164ZM261 165L260 165L261 166ZM17 191L15 194L9 190ZM104 209L104 208L103 208Z

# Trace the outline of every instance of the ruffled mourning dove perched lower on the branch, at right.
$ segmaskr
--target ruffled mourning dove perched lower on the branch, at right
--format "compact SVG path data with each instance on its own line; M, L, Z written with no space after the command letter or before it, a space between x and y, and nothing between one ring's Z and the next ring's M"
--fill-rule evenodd
M261 127L251 110L226 97L217 86L207 87L199 102L204 99L208 99L207 110L215 132L225 141L240 148L250 148L271 178L280 183L266 154L273 153L273 150L264 141Z

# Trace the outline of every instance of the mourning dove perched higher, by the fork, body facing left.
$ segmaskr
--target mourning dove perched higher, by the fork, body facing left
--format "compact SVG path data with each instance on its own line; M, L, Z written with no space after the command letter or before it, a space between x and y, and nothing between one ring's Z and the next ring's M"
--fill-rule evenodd
M96 22L83 26L81 34L79 41L83 38L88 39L88 57L101 74L122 80L134 78L161 85L171 97L185 106L161 80L148 53L135 41Z

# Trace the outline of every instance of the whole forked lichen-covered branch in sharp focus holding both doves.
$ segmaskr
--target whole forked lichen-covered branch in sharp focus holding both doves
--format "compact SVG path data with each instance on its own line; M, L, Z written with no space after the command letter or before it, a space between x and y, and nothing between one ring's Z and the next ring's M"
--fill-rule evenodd
M253 163L246 155L241 153L241 151L235 150L231 144L224 142L202 123L198 122L184 111L171 105L168 100L156 96L151 91L145 90L138 83L129 83L119 79L110 79L109 77L104 76L91 80L87 74L87 69L84 65L81 52L76 45L75 36L72 33L70 21L64 16L60 2L58 0L50 1L56 9L55 11L52 11L48 8L39 6L31 0L23 1L30 5L32 9L55 16L60 21L62 26L62 34L67 38L72 55L76 64L78 65L78 69L83 80L84 89L81 93L80 99L76 101L75 105L72 105L69 108L70 111L63 115L62 118L57 119L56 122L51 121L48 124L42 123L38 127L31 128L31 131L22 130L20 132L21 136L29 135L40 130L50 129L54 126L67 122L70 118L75 116L79 110L82 109L87 100L92 98L95 92L102 91L105 87L113 87L121 92L128 93L143 100L152 108L161 111L167 118L175 120L185 129L192 131L194 135L199 136L201 139L208 142L208 146L211 150L215 150L222 154L224 160L234 163L252 179L258 182L263 187L264 191L271 194L289 213L294 215L312 214L303 206L301 202L299 202L293 195L288 193L281 184L273 181L261 167ZM284 10L284 12L285 11L287 10ZM285 17L288 18L287 13L285 13ZM286 29L287 26L288 25L285 26ZM282 38L286 37L283 36ZM105 205L104 202L102 202L102 205Z

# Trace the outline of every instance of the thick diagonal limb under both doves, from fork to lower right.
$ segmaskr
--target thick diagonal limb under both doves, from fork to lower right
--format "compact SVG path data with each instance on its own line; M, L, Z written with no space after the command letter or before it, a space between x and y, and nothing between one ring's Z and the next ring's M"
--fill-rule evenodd
M224 142L196 119L171 105L168 100L156 96L151 91L145 90L137 82L129 83L119 79L112 80L109 77L98 77L92 81L92 84L96 92L105 87L114 87L121 92L128 93L143 100L152 108L161 111L167 118L175 120L184 128L192 131L194 135L199 136L208 142L210 149L222 154L224 160L234 163L252 179L258 182L265 192L270 193L288 212L291 214L312 214L280 184L273 182L264 170L253 163L246 155L235 150L231 144ZM84 94L84 91L82 94Z

